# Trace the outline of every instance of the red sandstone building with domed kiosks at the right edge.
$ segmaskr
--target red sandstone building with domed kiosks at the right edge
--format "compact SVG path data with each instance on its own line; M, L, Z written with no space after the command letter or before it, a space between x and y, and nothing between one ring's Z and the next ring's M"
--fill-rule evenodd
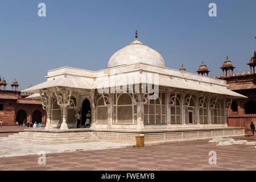
M233 67L231 61L227 57L221 67L223 75L218 76L218 78L226 80L227 84L229 85L228 89L248 97L233 100L231 109L228 110L228 125L245 127L246 133L251 133L250 123L256 123L255 51L248 65L250 66L249 72L234 74L233 69L235 67ZM224 74L224 71L226 74ZM231 74L230 71L232 72Z

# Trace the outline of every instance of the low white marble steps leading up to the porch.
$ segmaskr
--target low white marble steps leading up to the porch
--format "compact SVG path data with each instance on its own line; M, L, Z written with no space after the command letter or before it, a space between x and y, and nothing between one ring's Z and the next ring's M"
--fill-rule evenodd
M76 143L76 142L96 142L100 141L96 135L92 133L46 133L46 132L30 132L24 131L18 134L9 135L6 139L16 141L27 141L32 143L43 144L60 144L60 143Z

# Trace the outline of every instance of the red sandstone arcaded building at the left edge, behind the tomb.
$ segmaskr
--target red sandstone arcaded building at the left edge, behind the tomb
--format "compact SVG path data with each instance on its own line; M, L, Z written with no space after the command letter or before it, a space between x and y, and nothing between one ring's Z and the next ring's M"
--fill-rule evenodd
M46 111L43 110L40 100L26 99L18 91L16 80L11 84L11 90L7 90L5 78L0 78L0 117L3 125L15 125L23 123L27 119L30 123L46 123Z

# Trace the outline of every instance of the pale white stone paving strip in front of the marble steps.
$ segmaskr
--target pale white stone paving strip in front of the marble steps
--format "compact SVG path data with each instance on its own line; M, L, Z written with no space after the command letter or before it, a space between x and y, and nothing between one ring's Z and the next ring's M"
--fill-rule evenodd
M133 144L114 142L84 142L65 144L36 144L26 141L14 141L0 138L0 158L10 156L38 155L39 151L46 154L72 152L82 150L99 150L106 148L133 147Z

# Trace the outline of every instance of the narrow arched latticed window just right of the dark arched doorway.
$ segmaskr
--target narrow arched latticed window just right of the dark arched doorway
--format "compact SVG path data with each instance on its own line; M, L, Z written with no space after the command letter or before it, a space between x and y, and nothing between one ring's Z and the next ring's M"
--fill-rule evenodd
M102 94L97 94L96 102L96 123L108 123L108 106L104 105L104 99L107 100L107 96Z

